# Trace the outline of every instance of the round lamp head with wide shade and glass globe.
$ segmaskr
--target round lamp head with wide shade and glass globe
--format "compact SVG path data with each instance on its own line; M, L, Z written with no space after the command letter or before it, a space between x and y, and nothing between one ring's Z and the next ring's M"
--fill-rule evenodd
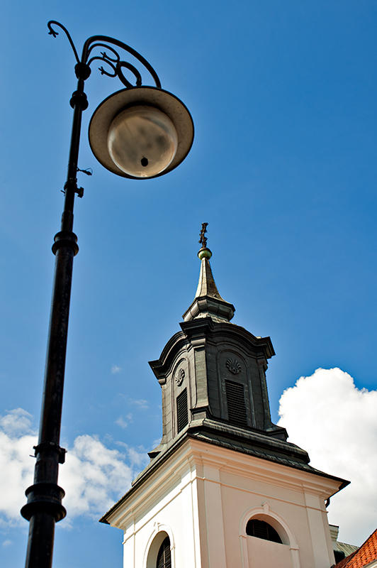
M94 111L89 143L111 172L135 180L155 178L186 158L193 121L185 105L163 89L122 89Z

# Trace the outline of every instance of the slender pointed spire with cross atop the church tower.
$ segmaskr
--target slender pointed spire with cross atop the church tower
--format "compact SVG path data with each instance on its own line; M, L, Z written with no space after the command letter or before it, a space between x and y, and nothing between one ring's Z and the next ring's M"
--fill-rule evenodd
M201 260L201 273L199 275L196 295L188 310L183 315L184 321L188 322L197 317L211 317L216 322L229 322L235 314L234 305L226 302L220 296L210 268L212 251L207 247L206 237L208 223L202 223L199 243L202 245L198 251Z

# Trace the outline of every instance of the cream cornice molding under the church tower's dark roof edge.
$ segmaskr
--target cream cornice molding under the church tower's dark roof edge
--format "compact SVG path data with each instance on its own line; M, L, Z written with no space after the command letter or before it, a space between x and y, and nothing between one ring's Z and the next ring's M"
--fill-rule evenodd
M183 491L184 486L193 481L209 481L227 485L219 481L218 476L211 479L208 470L206 470L206 476L203 477L201 472L205 466L214 471L235 474L253 481L262 481L298 491L298 493L310 493L324 502L324 511L325 499L348 484L344 479L330 476L318 470L303 471L189 437L185 437L183 442L174 453L169 454L163 463L159 463L157 468L151 469L148 475L142 476L128 493L125 493L125 496L103 515L100 521L124 530L128 520L135 515L141 515L142 510L151 506L151 500L154 503L159 502L161 496L166 495L169 488L172 492L170 501L171 498ZM187 474L189 472L191 473L188 480ZM245 488L238 489L249 491ZM281 501L281 499L279 500ZM295 505L313 508L307 503L295 503Z

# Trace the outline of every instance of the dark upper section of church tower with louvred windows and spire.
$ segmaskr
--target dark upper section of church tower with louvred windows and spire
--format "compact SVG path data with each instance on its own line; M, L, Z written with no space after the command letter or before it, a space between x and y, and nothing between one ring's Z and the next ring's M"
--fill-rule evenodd
M308 464L308 454L286 442L287 433L271 422L266 386L267 361L274 356L269 337L256 337L230 323L235 307L221 297L210 268L207 224L198 252L201 272L193 302L176 333L150 366L162 386L162 441L150 452L164 453L176 439L196 431L213 443L280 456ZM205 433L206 432L206 433ZM262 454L260 454L263 448ZM258 453L259 452L259 453Z

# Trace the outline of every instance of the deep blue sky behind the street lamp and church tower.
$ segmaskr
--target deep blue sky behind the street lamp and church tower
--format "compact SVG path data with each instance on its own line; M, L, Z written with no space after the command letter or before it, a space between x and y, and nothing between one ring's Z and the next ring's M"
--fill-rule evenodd
M5 0L0 414L6 441L25 441L38 426L50 246L59 230L72 120L74 58L62 34L47 35L49 19L67 26L79 50L94 34L139 50L162 87L190 109L196 128L191 153L169 175L117 178L96 162L86 132L96 106L121 84L96 67L86 82L79 166L94 175L79 177L85 192L75 205L80 251L62 445L86 464L102 452L109 464L123 463L118 474L130 478L142 467L161 432L159 385L147 361L157 359L193 299L202 222L209 223L216 283L237 310L233 321L270 335L274 344L267 375L274 420L281 393L319 367L349 373L352 392L373 391L376 3ZM337 415L337 447L347 447L354 426L342 431L346 410L332 413L342 395L331 391L330 398L320 384L318 400L329 400L324 421L334 424ZM376 423L358 430L360 444L366 430L376 433ZM90 437L91 457L79 449L83 436ZM22 449L26 457L32 445ZM330 465L327 471L337 474ZM119 493L120 474L111 471ZM96 522L103 512L98 500L99 513L89 497L87 503L86 512L57 526L57 568L120 566L120 532ZM1 514L1 564L22 564L27 523L16 520L11 504ZM364 536L373 528L364 526Z

